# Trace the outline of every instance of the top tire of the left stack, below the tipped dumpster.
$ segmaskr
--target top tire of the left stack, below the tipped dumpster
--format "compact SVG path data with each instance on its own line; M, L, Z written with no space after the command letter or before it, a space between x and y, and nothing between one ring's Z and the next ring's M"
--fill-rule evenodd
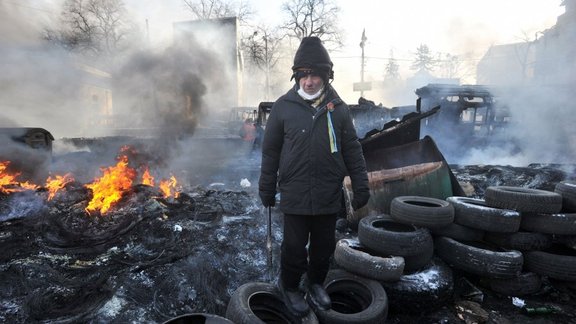
M454 221L454 208L438 198L399 196L390 203L390 216L398 223L438 228Z

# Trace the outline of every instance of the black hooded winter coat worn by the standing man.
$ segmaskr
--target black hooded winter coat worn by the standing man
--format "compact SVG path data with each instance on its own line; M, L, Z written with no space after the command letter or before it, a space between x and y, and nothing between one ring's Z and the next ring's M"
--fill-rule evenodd
M370 197L368 175L348 106L331 86L318 110L296 90L274 103L266 123L260 196L274 197L278 184L283 213L334 214L342 208L343 180L349 175L355 203L363 206ZM333 106L331 112L327 105ZM328 113L336 135L335 153L330 149Z

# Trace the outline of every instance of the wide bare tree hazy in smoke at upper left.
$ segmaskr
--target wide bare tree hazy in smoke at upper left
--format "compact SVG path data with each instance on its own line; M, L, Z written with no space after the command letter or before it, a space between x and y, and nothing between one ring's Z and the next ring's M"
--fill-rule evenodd
M66 0L62 28L45 38L64 48L112 59L125 45L130 26L122 0Z

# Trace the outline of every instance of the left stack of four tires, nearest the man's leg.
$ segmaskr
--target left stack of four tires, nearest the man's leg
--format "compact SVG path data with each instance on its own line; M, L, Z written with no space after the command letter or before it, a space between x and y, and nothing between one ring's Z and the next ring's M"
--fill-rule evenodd
M430 229L445 227L453 219L454 209L444 200L396 197L390 215L362 218L358 239L337 243L334 260L348 272L378 281L391 312L433 310L451 298L454 279L451 268L434 257Z

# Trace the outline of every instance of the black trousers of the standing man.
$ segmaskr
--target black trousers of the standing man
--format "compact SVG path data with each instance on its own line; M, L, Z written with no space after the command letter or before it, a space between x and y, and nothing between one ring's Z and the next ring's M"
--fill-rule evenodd
M336 214L284 214L280 280L286 289L297 289L304 273L311 284L324 282L336 247L335 231Z

